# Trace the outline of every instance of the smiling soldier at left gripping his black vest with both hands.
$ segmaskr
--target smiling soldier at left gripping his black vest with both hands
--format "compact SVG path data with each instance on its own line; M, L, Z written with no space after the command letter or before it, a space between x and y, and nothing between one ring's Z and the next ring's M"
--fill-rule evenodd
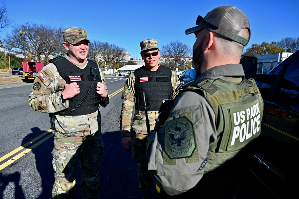
M98 107L106 107L109 103L105 78L97 64L86 59L89 40L85 30L67 28L63 31L63 39L68 54L51 60L38 73L29 105L56 117L52 126L55 129L52 198L73 198L79 162L82 198L99 198L99 165L104 147ZM87 100L78 105L86 96Z

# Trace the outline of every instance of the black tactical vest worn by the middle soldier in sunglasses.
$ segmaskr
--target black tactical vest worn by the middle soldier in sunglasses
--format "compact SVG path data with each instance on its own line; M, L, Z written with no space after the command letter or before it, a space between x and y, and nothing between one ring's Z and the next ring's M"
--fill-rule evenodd
M157 71L150 71L142 66L134 71L134 75L136 110L145 110L143 91L148 111L158 111L162 100L172 97L171 69L160 66Z

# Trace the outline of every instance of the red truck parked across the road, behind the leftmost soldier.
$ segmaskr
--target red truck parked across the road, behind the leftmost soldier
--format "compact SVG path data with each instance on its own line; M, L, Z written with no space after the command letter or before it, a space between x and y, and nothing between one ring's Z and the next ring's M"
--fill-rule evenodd
M41 62L23 62L23 72L26 81L34 81L36 74L42 70L44 63Z

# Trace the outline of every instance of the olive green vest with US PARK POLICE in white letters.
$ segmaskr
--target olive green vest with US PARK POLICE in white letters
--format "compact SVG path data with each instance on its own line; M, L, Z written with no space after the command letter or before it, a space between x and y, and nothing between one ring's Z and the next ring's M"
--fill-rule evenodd
M214 110L217 140L210 143L209 168L196 187L209 193L215 189L209 185L216 183L218 193L227 194L227 187L237 186L253 158L263 100L252 78L206 79L184 90L198 89Z

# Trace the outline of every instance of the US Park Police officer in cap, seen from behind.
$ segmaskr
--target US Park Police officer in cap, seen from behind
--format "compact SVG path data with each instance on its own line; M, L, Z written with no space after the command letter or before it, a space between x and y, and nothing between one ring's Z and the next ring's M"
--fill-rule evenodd
M198 16L194 67L201 75L164 104L148 140L148 169L160 198L235 198L261 133L263 101L239 64L247 16L220 6Z

